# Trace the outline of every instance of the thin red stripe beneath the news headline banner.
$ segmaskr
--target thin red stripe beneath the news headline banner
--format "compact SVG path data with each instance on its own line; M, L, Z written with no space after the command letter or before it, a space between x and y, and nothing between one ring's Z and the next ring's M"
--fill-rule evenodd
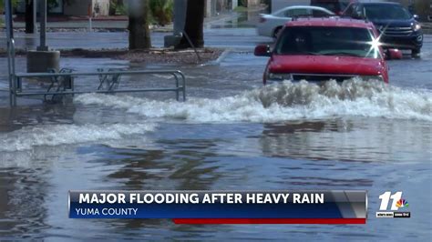
M365 218L174 218L175 224L183 225L247 225L247 224L365 224Z

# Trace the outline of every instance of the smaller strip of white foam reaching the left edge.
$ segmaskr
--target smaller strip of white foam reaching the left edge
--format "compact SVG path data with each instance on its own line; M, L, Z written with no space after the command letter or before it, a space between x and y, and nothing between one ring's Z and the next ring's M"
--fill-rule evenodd
M0 134L0 152L28 150L35 146L116 140L153 131L154 128L154 124L26 126L10 133Z

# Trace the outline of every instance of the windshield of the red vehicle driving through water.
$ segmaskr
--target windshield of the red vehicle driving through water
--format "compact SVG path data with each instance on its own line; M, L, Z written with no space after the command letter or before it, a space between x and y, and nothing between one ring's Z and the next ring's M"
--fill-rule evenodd
M347 55L378 58L372 32L358 27L287 27L276 43L276 55Z

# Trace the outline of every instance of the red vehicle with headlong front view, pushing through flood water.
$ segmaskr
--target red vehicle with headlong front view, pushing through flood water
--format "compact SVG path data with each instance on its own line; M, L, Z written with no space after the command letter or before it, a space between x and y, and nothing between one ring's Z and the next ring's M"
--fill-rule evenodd
M269 45L258 45L255 55L270 56L264 85L283 80L343 82L355 76L388 83L385 54L377 40L375 26L364 20L299 18L285 24L272 51Z

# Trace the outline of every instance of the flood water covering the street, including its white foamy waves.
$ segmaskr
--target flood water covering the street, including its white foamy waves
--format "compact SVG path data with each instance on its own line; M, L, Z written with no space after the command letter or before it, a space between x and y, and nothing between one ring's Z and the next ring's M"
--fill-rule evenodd
M0 93L0 237L427 241L431 58L390 62L389 86L351 80L262 87L265 59L232 53L221 66L180 67L188 78L185 103L173 94L88 94L64 104L20 99L11 109ZM62 61L79 71L154 67ZM17 66L24 68L25 60ZM122 85L160 79L170 82L150 76L125 78ZM355 226L69 219L67 191L77 189L365 189L368 219ZM403 191L411 218L375 218L386 191Z

